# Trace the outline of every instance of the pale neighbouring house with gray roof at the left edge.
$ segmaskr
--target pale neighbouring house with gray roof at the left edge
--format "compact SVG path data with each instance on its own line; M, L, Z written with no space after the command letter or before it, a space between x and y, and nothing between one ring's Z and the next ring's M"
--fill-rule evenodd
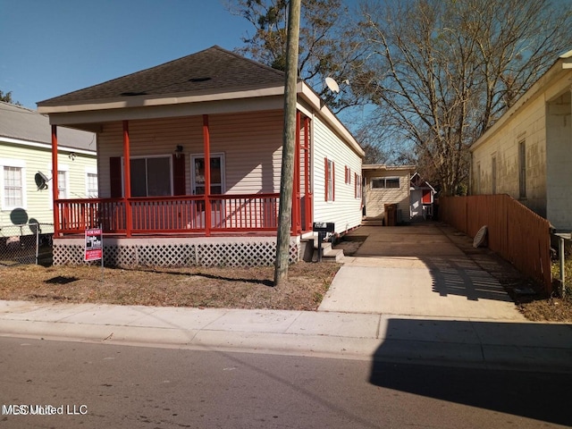
M51 143L47 116L0 102L1 237L31 233L27 224L54 231ZM97 198L94 133L63 129L57 161L57 198Z

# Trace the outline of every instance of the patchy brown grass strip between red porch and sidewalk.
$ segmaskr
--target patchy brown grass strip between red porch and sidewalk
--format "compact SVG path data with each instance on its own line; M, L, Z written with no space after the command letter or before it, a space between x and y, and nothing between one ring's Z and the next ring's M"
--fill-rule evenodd
M97 265L0 268L0 299L160 307L315 310L338 264L290 265L273 287L273 267L102 269Z

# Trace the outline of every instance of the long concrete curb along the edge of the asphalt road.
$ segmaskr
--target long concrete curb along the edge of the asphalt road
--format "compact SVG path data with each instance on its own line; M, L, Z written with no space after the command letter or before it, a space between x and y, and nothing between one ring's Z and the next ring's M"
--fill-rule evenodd
M572 373L571 349L499 344L350 338L284 332L185 330L9 319L2 321L0 336L173 349L334 357L371 360L373 365L379 362L391 362Z

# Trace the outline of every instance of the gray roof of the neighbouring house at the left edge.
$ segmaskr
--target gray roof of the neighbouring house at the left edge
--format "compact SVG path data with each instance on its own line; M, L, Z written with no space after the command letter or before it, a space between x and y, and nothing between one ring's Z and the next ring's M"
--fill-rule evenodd
M58 146L95 152L96 135L91 132L58 127ZM0 143L2 138L52 144L52 127L46 115L20 105L0 102Z

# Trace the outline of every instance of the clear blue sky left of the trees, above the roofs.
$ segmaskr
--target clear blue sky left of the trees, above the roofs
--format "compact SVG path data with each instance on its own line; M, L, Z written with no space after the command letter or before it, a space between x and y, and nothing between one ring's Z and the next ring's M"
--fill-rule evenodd
M224 0L0 0L0 90L38 101L193 54L241 46Z

